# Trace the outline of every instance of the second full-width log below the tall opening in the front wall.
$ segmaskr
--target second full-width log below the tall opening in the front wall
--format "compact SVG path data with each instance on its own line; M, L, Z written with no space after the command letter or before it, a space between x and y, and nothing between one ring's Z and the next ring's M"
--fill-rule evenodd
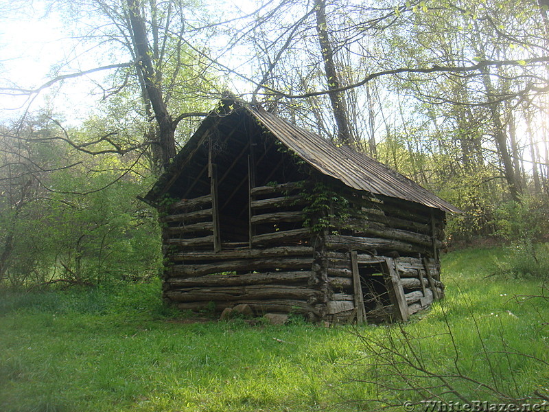
M233 271L259 271L260 269L299 269L312 267L312 258L268 258L223 260L208 264L176 264L167 268L173 277L193 277L211 273Z

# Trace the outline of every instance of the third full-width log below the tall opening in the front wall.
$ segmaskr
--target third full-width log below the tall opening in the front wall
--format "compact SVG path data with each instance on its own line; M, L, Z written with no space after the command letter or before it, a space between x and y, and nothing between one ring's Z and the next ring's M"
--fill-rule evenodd
M307 283L314 273L307 271L246 273L244 275L205 275L200 277L170 277L164 281L172 288L191 286L244 286L259 284Z

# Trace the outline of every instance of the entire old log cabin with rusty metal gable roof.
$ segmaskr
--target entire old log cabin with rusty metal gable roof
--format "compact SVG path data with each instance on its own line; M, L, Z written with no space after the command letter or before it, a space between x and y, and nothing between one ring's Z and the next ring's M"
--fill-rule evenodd
M446 213L405 176L240 100L220 102L143 200L163 298L310 321L406 321L441 299Z

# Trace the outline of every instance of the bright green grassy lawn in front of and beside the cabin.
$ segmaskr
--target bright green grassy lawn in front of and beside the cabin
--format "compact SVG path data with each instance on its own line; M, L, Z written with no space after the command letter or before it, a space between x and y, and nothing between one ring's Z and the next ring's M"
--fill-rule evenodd
M502 249L445 255L446 299L404 325L404 336L430 336L417 342L437 373L457 365L512 396L549 395L548 364L513 354L549 362L549 304L513 299L539 294L537 279L487 277L505 258ZM379 363L362 339L403 336L299 319L187 323L161 306L159 290L0 295L0 411L368 411ZM482 393L456 385L469 399ZM409 394L382 396L398 404Z

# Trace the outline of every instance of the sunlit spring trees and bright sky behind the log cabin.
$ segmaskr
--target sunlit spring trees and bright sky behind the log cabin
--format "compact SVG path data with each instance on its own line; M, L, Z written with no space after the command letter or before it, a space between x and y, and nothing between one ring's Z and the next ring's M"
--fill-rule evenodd
M502 271L547 273L546 0L1 8L1 286L157 275L156 216L138 197L226 93L459 207L451 246L504 240L517 258ZM56 41L37 32L27 48L35 67L13 52L23 22L57 22Z

